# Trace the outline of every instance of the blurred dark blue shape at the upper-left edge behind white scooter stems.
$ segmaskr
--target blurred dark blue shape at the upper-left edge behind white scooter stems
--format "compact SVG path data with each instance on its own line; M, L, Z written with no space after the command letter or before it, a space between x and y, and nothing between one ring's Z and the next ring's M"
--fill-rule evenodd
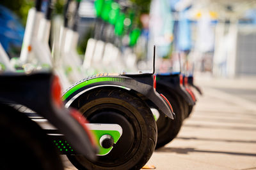
M21 48L24 27L8 8L0 5L0 42L4 50L10 53L12 48Z

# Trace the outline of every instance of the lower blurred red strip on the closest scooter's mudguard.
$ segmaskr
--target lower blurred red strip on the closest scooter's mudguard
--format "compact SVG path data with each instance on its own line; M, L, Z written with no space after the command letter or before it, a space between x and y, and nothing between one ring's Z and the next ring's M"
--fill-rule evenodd
M81 115L81 113L75 109L70 109L70 112L71 112L71 116L74 119L76 119L77 122L79 122L79 124L83 127L83 129L86 132L86 134L88 135L92 145L96 147L96 138L92 134L92 132L88 129L88 127L86 126L86 124L88 124L88 121L86 120L86 118L84 118L83 115Z

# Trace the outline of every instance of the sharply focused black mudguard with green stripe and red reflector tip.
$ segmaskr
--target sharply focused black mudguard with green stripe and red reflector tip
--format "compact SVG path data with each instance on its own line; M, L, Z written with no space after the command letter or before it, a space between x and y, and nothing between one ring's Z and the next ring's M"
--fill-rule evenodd
M100 87L118 87L129 90L131 92L143 95L142 98L150 100L154 106L166 117L174 118L172 106L167 99L156 92L154 89L154 75L143 74L97 74L88 78L84 78L67 89L62 99L66 103L66 107L70 106L79 96L86 94L89 90Z

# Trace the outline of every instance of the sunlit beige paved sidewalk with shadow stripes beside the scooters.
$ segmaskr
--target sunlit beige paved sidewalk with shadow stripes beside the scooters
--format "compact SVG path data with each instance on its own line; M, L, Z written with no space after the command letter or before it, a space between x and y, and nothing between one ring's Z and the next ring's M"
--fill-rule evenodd
M204 96L196 95L198 103L178 137L154 152L148 165L178 170L256 169L256 101L250 96L256 92L254 82L197 80ZM243 90L250 97L244 97ZM65 164L76 169L67 159Z

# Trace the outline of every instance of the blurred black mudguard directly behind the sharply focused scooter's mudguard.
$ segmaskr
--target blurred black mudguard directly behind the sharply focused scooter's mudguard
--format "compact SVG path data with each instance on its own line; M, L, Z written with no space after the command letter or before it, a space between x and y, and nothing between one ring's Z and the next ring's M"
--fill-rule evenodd
M195 102L188 94L183 85L180 85L180 74L156 74L157 86L166 88L172 94L177 94L185 99L185 101L190 105L195 105Z

